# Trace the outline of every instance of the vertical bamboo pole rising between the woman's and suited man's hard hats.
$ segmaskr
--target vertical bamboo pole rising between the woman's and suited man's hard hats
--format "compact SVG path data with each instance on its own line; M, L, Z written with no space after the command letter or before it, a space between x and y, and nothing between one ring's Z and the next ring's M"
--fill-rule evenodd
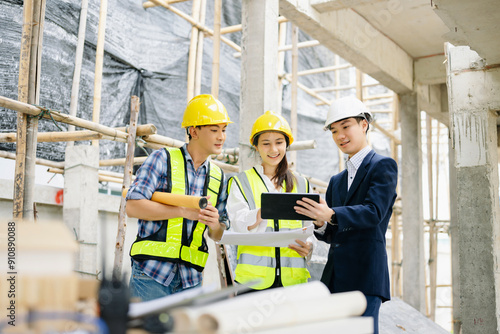
M290 110L290 127L292 128L292 135L297 138L297 93L298 93L298 73L299 73L299 28L292 24L292 101ZM297 152L290 153L290 163L292 170L297 170Z

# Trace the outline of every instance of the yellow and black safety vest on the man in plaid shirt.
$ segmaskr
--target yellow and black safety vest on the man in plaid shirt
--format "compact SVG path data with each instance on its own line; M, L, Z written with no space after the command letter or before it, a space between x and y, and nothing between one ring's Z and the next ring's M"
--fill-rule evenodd
M167 192L189 194L184 154L178 148L166 148L170 182ZM221 192L224 174L219 166L209 162L203 195L210 195L210 202L215 207ZM130 256L135 260L159 260L180 262L198 271L203 271L208 259L208 246L203 233L207 226L195 221L191 237L188 239L184 218L171 218L162 222L161 228L154 234L137 239L132 244Z

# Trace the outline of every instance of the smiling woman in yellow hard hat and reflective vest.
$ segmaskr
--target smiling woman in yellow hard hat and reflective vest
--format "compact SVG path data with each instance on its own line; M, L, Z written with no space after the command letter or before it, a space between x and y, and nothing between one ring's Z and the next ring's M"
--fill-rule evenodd
M300 220L266 220L261 217L261 194L309 192L309 182L288 168L286 150L293 142L288 122L272 111L261 115L252 127L250 143L261 163L229 181L227 212L231 229L240 233L274 232L302 227ZM287 247L238 246L235 280L258 280L254 290L306 283L310 277L305 257L312 241Z

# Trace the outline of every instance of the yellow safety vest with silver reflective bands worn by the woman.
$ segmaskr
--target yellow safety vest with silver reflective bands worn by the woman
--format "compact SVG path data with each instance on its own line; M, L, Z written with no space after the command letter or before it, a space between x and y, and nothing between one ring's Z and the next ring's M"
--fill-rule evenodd
M292 192L309 192L307 179L295 175L297 182ZM229 187L236 183L250 210L261 207L260 195L269 192L266 184L255 168L246 170L231 178ZM283 187L285 184L283 183ZM300 220L268 219L266 232L284 231L302 228ZM306 267L306 261L296 251L287 247L238 246L238 264L235 270L235 280L245 284L260 280L260 284L252 286L255 290L271 287L278 276L283 286L306 283L311 277Z

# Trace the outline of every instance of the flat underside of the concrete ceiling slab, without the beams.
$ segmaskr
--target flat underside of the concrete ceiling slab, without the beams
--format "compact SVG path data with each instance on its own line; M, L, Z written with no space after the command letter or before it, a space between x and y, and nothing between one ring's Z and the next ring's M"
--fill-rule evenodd
M319 13L351 8L412 58L444 53L445 42L468 45L500 63L498 0L310 0Z

